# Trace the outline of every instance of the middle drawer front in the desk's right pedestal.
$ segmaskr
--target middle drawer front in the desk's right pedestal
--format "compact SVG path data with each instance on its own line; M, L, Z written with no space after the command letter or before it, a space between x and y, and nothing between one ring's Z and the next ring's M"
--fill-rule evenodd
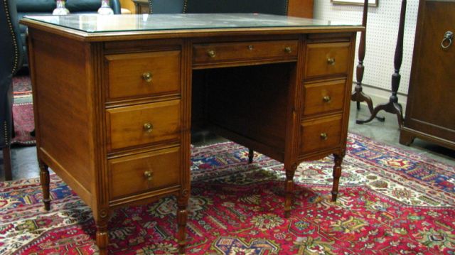
M304 85L304 116L343 109L346 80Z

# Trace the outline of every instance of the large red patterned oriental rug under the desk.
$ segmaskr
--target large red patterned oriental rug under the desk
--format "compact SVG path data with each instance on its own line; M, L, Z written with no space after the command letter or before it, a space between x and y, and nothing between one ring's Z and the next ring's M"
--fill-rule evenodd
M187 254L454 254L455 169L350 134L341 194L333 159L302 163L291 217L282 164L236 143L193 148ZM57 176L1 183L0 254L93 254L90 209ZM176 201L116 210L110 254L175 254Z

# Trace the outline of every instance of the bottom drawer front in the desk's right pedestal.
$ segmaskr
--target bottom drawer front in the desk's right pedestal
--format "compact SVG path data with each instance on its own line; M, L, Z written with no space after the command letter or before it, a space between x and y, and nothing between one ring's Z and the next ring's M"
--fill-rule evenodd
M301 153L323 150L340 145L341 115L304 121L301 124Z

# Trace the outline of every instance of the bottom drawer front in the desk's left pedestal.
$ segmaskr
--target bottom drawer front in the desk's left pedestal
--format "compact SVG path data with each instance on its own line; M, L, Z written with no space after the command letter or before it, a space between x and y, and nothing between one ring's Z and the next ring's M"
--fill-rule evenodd
M179 185L180 148L109 160L110 200Z

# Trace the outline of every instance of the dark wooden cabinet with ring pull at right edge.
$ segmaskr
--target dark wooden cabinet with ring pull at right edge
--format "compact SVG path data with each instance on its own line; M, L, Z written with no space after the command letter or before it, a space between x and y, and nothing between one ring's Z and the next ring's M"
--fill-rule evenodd
M455 149L455 45L444 40L455 33L454 13L455 1L420 1L400 143L418 137Z

